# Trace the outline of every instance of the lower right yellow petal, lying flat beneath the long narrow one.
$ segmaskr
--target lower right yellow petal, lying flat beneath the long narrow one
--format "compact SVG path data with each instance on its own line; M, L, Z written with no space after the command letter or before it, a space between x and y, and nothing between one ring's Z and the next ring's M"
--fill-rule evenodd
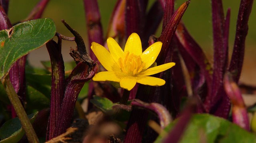
M165 81L161 78L156 78L152 76L142 76L137 79L137 82L144 85L150 86L162 86L165 84Z

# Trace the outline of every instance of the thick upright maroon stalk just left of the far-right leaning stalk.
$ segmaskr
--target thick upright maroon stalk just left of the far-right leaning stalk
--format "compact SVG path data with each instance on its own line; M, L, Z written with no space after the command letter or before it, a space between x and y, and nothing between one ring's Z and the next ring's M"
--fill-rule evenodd
M214 45L214 68L212 74L212 93L206 97L204 106L206 112L218 101L217 93L222 85L224 72L226 70L226 51L224 47L224 13L222 0L212 0L212 27Z

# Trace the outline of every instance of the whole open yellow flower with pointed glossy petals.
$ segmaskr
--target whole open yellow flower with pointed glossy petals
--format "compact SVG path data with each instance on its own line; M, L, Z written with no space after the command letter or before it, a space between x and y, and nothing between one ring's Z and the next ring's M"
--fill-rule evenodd
M129 36L124 51L111 37L107 39L107 44L109 51L102 45L92 42L92 51L107 70L95 74L92 78L94 81L120 82L120 86L126 90L131 90L136 82L150 86L162 86L165 84L163 79L149 75L165 71L175 65L175 63L166 63L149 68L156 61L162 42L150 45L142 53L140 37L136 33Z

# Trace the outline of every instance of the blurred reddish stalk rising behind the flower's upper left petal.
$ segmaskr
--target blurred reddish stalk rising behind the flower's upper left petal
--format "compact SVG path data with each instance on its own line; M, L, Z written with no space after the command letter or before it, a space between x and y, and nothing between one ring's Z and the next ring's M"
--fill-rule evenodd
M104 45L102 25L100 22L100 11L97 0L84 0L84 10L89 38L88 43L91 44L92 42L96 42L100 45ZM92 60L98 61L92 51L90 51L90 57Z

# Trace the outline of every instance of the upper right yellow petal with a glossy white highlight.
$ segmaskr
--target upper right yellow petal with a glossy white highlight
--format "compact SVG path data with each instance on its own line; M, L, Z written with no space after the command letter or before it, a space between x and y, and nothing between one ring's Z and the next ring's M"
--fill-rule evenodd
M144 69L148 69L160 53L162 42L156 42L148 47L141 55L141 60L145 63Z

